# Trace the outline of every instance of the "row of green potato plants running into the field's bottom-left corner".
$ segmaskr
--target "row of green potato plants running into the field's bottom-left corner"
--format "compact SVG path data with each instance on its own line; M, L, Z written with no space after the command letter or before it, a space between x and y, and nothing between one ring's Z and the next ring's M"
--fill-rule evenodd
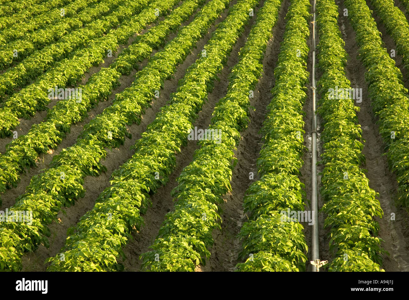
M92 124L84 128L76 144L54 156L50 169L32 178L26 193L18 198L11 210L34 211L34 222L31 226L23 222L0 224L2 225L0 227L0 267L18 270L21 267L21 256L25 251L33 250L39 243L48 245L47 224L56 220L62 206L70 206L83 197L85 192L83 178L87 175L97 176L105 170L101 164L101 159L107 154L104 148L117 147L124 142L125 136L130 137L126 131L126 125L132 122L139 124L141 113L149 106L149 102L155 96L155 90L160 90L164 80L173 75L177 65L184 61L196 42L207 33L228 3L228 0L212 0L203 7L196 18L180 29L178 36L166 44L162 51L150 58L147 66L137 73L134 82L135 87L139 88L137 98L127 99L128 101L117 100L111 107L105 109L101 115L93 119ZM169 60L172 63L169 63ZM158 68L162 70L159 77L152 78L151 74L156 73ZM116 96L119 95L121 94ZM146 160L147 157L149 156L144 159ZM148 166L149 164L146 163L144 168ZM64 179L61 179L61 176ZM39 198L41 201L38 201ZM116 226L120 228L121 224L115 224ZM109 244L109 240L105 238L99 241ZM108 247L113 246L110 244ZM4 261L3 265L2 261Z

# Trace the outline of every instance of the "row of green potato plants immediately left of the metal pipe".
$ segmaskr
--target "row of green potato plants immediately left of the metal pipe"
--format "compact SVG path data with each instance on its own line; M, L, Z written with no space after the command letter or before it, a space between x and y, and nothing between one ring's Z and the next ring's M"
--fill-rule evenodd
M303 103L309 73L307 38L311 15L308 0L291 2L283 42L274 69L272 100L260 133L263 146L257 159L260 179L247 189L243 207L249 218L239 237L243 249L238 271L305 271L308 246L303 225L281 211L304 211Z

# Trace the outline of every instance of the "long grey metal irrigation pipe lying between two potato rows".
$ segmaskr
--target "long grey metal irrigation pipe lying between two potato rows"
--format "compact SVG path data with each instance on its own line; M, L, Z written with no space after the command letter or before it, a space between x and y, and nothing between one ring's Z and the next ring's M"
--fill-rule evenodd
M319 260L318 243L318 199L317 199L317 118L316 118L316 87L315 87L315 2L312 19L312 131L311 131L311 210L314 212L314 223L312 224L311 248L312 260ZM319 268L312 267L312 272Z

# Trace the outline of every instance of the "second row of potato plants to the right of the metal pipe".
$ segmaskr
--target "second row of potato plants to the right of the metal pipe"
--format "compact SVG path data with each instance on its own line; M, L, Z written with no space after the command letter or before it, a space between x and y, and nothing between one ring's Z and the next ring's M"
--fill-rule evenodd
M383 48L380 32L364 0L345 0L350 13L360 60L366 68L365 81L371 106L378 117L391 171L398 182L398 201L409 205L409 98L402 73Z

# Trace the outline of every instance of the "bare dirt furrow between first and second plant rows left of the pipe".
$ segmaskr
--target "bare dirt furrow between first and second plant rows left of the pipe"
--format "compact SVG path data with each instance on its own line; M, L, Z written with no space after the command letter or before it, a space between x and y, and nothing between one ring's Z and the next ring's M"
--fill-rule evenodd
M274 86L274 68L278 62L280 42L283 40L285 29L285 14L290 1L284 0L281 4L278 20L273 29L273 37L268 41L263 59L263 73L254 91L254 98L250 105L255 110L250 110L250 122L240 136L240 143L236 146L234 156L237 158L236 167L233 169L231 192L223 197L224 203L220 206L222 211L221 231L213 231L213 247L210 249L210 259L205 266L199 266L200 271L234 271L241 251L241 241L237 235L247 216L243 212L243 197L245 191L255 180L258 180L256 160L261 150L261 138L258 134L261 129L266 107L271 101L271 89ZM249 179L249 173L254 173L254 179Z

